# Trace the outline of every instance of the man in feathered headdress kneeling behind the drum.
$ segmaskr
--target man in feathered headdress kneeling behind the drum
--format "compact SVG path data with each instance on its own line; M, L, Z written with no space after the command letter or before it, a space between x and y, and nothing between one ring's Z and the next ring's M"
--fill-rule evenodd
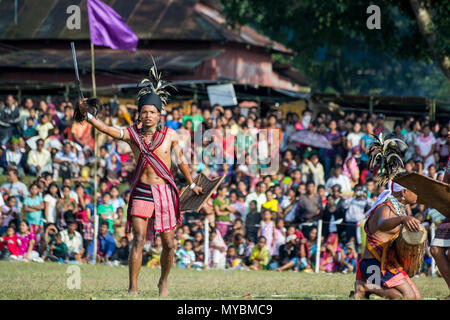
M355 291L351 294L355 299L368 299L371 294L389 299L421 298L394 247L402 225L411 231L420 228L420 221L409 216L406 209L416 203L417 195L393 181L404 174L401 154L407 148L402 140L383 140L382 134L369 148L370 169L377 171L378 184L386 189L366 213L366 247L358 261Z

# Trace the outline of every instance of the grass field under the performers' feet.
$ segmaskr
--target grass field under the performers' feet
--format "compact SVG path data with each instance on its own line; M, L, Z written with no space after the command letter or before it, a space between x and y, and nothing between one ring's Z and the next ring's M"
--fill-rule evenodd
M128 299L128 268L80 266L81 289L68 289L69 265L0 262L0 299ZM138 299L158 299L159 269L143 267ZM275 271L183 270L169 277L171 299L347 299L352 274L308 274ZM424 299L443 298L442 278L413 281ZM248 298L248 297L247 297Z

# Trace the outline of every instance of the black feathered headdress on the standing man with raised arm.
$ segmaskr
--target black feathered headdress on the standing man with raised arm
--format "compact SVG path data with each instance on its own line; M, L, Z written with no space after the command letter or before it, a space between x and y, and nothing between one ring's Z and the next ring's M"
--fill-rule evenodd
M153 56L152 61L153 66L150 68L149 77L142 79L138 84L138 87L141 87L137 95L138 109L140 111L144 104L152 104L161 112L164 110L162 106L167 104L170 96L167 89L173 88L176 90L176 88L173 84L161 79L161 73L158 73Z

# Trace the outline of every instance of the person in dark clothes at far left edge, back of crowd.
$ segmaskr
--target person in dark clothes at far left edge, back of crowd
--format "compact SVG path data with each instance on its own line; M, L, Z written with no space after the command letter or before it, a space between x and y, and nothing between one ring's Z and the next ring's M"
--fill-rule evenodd
M19 134L20 110L12 95L6 97L6 105L0 108L0 143L2 146L11 140L13 135Z

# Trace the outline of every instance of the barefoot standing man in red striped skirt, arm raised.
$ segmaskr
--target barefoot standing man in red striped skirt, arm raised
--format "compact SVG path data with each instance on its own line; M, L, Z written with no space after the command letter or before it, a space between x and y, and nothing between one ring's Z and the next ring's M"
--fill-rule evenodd
M182 222L179 192L171 170L171 153L175 153L178 168L186 177L189 187L199 194L200 186L192 182L189 166L178 145L178 135L172 129L159 124L163 105L169 94L165 90L170 84L162 81L152 67L150 80L138 93L140 125L134 124L127 130L107 126L92 116L87 99L79 102L79 112L99 131L127 142L137 159L136 171L127 212L127 228L133 230L133 247L129 258L130 296L137 295L137 279L142 264L142 250L146 239L154 239L154 229L161 233L163 250L161 253L161 277L158 288L160 296L168 296L167 278L174 257L174 229Z

